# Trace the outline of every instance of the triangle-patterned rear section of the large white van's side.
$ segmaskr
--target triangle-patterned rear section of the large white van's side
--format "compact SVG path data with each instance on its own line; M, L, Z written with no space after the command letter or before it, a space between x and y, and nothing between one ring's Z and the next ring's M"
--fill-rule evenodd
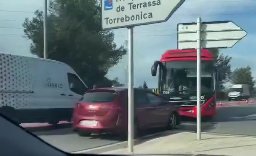
M24 108L29 103L33 91L29 59L0 53L0 107Z

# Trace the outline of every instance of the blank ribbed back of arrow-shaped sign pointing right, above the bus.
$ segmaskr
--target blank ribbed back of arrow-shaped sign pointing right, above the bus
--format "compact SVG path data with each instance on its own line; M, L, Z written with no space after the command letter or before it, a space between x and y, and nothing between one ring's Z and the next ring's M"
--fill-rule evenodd
M197 47L197 24L179 23L177 25L178 49L193 49ZM247 32L232 21L202 22L201 48L231 48Z

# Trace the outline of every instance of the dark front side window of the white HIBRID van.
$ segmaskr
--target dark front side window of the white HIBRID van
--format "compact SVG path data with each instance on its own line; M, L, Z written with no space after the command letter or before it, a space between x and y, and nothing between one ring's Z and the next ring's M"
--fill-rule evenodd
M68 73L68 84L69 89L76 94L84 95L87 91L87 87L75 74Z

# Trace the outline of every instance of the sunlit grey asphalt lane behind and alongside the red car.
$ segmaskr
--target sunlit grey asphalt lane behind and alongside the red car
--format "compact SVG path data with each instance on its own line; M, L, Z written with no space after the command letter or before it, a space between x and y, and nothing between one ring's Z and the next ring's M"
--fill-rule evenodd
M144 132L140 137L141 139L138 142L144 142L149 139L153 139L162 134L150 136L152 134L164 132L165 129L150 130ZM66 151L66 152L75 152L80 150L86 150L91 148L96 148L100 146L106 146L114 143L121 143L125 140L121 139L120 136L114 136L111 134L95 134L90 137L81 137L78 136L75 132L72 132L71 128L64 128L58 130L51 130L45 132L33 132L39 136L44 141L50 143L51 145Z

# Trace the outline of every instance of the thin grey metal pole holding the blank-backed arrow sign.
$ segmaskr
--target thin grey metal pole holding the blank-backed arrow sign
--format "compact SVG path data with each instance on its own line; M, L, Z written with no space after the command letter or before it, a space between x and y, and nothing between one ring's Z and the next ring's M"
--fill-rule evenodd
M197 18L197 140L201 139L201 18Z

